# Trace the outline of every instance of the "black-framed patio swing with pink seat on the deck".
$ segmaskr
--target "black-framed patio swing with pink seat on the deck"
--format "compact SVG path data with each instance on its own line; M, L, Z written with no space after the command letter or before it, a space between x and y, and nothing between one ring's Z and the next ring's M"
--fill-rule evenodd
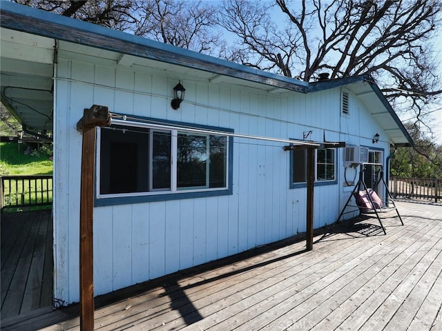
M385 188L385 193L386 193L386 197L384 199L378 197L378 194L376 194L373 188L367 188L367 185L365 184L364 181L366 165L378 165L380 167L380 169L377 172L377 179L376 183L374 184L374 188L376 188L379 183L383 184L383 188ZM352 199L355 200L356 205L351 204ZM347 207L354 207L357 209L346 211ZM390 194L390 190L388 190L387 183L385 183L382 164L361 163L358 183L354 185L352 194L350 194L349 198L347 199L347 202L345 203L344 208L340 212L338 219L336 221L339 221L340 218L343 216L343 214L349 214L351 212L356 212L357 210L359 210L360 215L365 214L365 215L370 215L372 217L376 215L376 218L378 219L379 224L381 224L381 228L384 234L387 234L387 232L385 231L384 225L381 221L381 216L380 216L381 212L390 212L392 210L395 210L397 216L399 217L399 220L401 220L401 223L403 225L402 217L398 212L398 208L394 203L392 194Z

